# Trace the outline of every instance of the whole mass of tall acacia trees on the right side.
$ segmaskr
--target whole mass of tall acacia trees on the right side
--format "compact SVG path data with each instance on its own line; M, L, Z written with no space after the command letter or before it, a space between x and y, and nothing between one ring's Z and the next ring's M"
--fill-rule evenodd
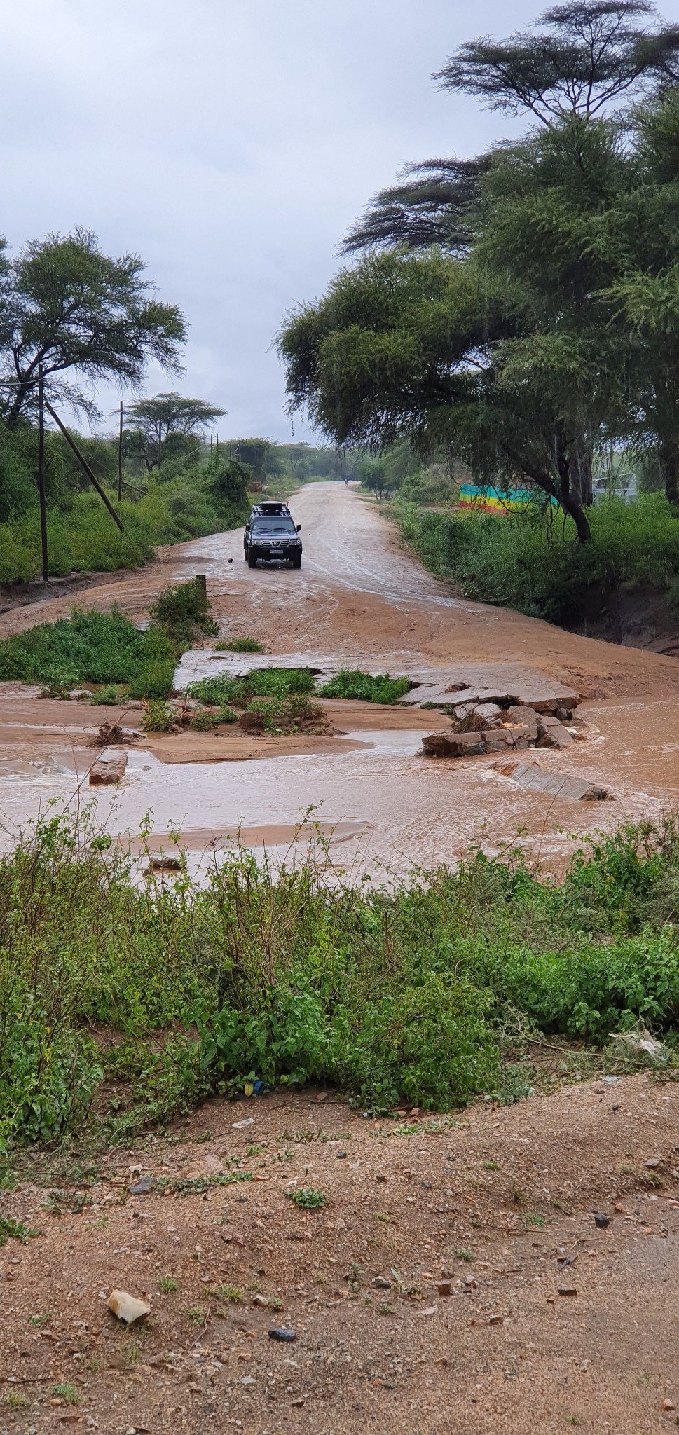
M376 197L345 240L366 257L281 330L293 409L340 445L445 446L534 485L581 541L612 442L657 453L679 505L679 26L653 14L567 0L462 46L445 88L534 123Z

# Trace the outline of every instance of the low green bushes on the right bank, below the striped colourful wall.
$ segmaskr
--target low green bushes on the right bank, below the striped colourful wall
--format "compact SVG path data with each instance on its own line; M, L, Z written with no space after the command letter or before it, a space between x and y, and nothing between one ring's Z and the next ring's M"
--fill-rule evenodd
M591 509L591 541L548 512L455 512L393 502L403 538L471 598L591 637L656 644L679 629L679 524L659 494Z

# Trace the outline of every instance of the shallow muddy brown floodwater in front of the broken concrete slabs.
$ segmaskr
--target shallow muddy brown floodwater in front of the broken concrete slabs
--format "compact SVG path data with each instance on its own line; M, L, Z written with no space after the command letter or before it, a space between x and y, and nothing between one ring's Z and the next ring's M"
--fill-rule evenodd
M399 723L408 716L415 715L399 715ZM436 713L419 718L436 728ZM342 841L345 870L367 871L375 881L412 865L454 864L469 845L491 854L511 842L558 874L577 834L679 805L679 702L584 703L580 718L586 740L567 755L535 756L554 772L603 782L612 798L606 804L521 789L487 758L425 759L418 728L349 729L349 751L266 761L164 763L149 748L131 746L123 782L103 789L86 782L92 749L62 740L32 753L29 745L3 746L0 730L3 847L27 818L59 799L72 809L90 804L93 819L112 834L134 837L149 817L152 851L182 829L195 858L238 832L253 850L280 851L307 817L332 842ZM300 837L306 842L309 829Z

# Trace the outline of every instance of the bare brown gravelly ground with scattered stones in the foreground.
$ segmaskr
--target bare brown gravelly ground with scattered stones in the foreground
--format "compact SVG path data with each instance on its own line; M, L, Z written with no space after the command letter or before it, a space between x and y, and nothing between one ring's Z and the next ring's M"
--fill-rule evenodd
M637 1075L441 1118L212 1101L32 1155L0 1198L36 1233L0 1248L0 1431L676 1428L678 1149L675 1085Z

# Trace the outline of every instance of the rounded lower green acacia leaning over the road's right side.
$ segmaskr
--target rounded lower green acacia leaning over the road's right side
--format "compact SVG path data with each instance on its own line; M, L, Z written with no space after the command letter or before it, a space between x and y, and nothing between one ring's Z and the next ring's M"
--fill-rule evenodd
M591 356L570 340L535 356L521 350L527 340L527 296L505 274L474 257L382 254L342 271L319 304L293 314L278 347L290 406L306 406L337 443L452 448L488 479L535 484L586 542L573 376L593 387Z

